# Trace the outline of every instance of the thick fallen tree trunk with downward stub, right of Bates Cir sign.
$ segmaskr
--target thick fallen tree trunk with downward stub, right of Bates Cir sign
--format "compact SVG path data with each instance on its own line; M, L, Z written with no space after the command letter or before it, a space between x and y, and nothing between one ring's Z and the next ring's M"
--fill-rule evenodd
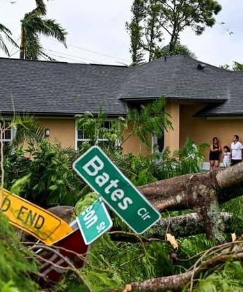
M209 239L224 240L219 204L243 194L243 162L223 171L188 174L138 187L157 210L194 210Z

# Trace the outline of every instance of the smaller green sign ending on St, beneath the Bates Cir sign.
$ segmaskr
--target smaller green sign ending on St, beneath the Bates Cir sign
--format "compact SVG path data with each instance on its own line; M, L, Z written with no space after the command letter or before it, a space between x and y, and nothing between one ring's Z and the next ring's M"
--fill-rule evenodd
M101 200L95 201L76 219L86 245L93 243L112 226L111 217Z

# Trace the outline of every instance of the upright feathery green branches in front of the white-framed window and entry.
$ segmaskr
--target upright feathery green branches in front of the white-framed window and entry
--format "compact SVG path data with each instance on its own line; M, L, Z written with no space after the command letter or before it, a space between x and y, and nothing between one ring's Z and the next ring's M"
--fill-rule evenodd
M139 109L129 108L126 118L119 117L116 121L111 121L111 128L105 127L107 115L102 112L102 109L97 116L91 112L77 115L77 129L83 129L87 139L81 145L80 152L83 153L89 146L98 145L104 151L116 153L123 146L123 132L127 129L127 125L132 125L130 135L139 137L148 150L151 150L151 135L160 138L165 130L172 129L170 116L164 112L165 103L165 98L162 97L141 105ZM101 137L108 141L106 143L100 141Z

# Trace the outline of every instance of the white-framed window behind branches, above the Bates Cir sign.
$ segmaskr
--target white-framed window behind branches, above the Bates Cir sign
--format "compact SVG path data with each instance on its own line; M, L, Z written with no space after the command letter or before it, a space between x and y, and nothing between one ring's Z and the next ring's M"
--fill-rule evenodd
M101 148L107 148L113 144L111 141L109 141L104 133L111 130L112 121L105 121L102 125L102 128L99 131L98 137L97 137L97 145ZM77 130L77 148L80 148L81 145L85 141L90 141L87 133L85 132L84 128ZM113 145L114 146L114 145Z

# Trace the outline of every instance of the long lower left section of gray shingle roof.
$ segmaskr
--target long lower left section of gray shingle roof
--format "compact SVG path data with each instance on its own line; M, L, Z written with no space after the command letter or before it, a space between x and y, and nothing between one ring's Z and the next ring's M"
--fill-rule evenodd
M118 100L130 68L0 59L0 113L126 114Z

